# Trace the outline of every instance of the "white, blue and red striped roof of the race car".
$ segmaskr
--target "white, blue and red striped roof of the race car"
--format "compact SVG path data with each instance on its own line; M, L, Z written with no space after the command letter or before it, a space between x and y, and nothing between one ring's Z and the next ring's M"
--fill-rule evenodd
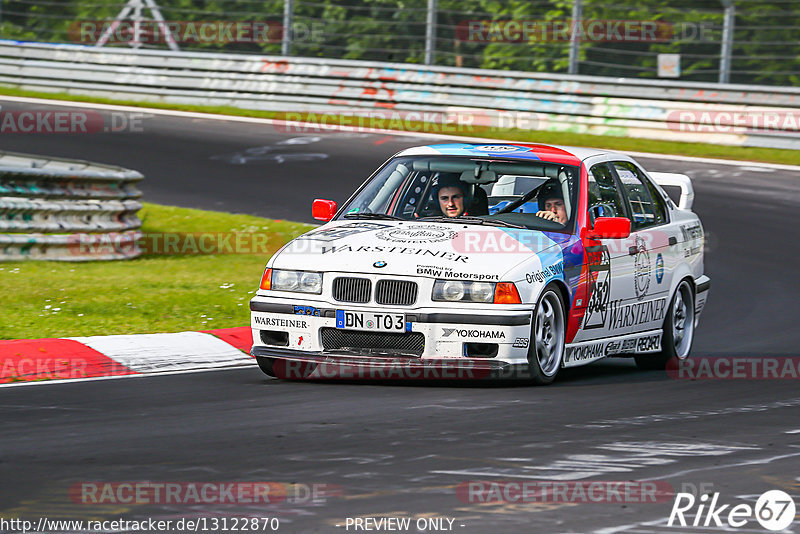
M617 155L597 148L542 145L535 143L443 143L407 148L398 156L448 155L466 157L502 157L522 161L538 160L564 165L579 165L591 156ZM621 154L620 154L621 155Z

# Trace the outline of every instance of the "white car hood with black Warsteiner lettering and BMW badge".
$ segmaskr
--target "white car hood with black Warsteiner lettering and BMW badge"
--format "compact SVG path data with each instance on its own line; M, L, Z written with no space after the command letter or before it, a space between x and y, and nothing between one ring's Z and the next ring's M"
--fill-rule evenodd
M302 235L271 267L310 271L500 280L567 239L563 234L480 225L335 221Z

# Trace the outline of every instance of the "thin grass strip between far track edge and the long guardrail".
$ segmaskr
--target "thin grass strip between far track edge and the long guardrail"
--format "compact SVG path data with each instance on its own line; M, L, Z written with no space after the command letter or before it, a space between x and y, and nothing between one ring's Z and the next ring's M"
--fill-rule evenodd
M67 93L48 93L17 89L0 86L0 94L10 96L24 96L34 98L50 98L78 102L94 102L99 104L116 104L156 109L172 109L211 113L219 115L234 115L243 117L261 117L267 119L285 118L287 113L274 111L248 110L230 106L193 106L184 104L167 104L162 102L140 102L130 100L113 100ZM304 114L292 113L296 118ZM343 117L345 124L352 119ZM376 121L375 127L388 127L384 121ZM448 133L468 137L485 137L492 139L507 139L511 141L524 141L534 143L547 143L572 146L587 146L606 148L610 150L654 152L659 154L677 154L683 156L696 156L706 158L720 158L746 161L762 161L766 163L782 163L787 165L800 165L800 150L781 150L775 148L737 147L725 145L712 145L708 143L680 143L674 141L658 141L651 139L634 139L628 137L613 137L603 135L588 135L571 132L547 132L522 129L477 128L464 131L456 127L442 128L437 125L422 125L420 123L406 123L406 129L413 131L428 131L434 133Z

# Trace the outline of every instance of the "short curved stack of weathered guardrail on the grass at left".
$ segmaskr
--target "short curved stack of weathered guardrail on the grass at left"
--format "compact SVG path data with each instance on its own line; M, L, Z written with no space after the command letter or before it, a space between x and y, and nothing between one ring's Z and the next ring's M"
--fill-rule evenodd
M121 167L0 152L0 261L140 255L142 178ZM118 246L86 246L110 233Z

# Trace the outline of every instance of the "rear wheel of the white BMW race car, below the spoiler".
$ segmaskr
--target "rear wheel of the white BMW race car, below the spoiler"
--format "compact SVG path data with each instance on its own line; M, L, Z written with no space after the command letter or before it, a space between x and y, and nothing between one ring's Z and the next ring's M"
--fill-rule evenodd
M646 370L664 370L670 362L685 360L694 341L694 291L689 280L681 280L672 296L664 318L661 352L634 356L636 366Z

